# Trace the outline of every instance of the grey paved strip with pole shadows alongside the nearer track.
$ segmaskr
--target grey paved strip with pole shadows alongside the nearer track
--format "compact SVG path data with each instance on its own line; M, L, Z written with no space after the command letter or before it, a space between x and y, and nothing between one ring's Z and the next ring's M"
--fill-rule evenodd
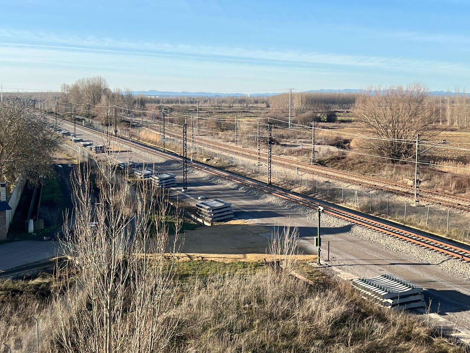
M63 126L73 130L71 124ZM101 137L92 136L79 126L77 133L84 140L102 143ZM126 160L128 154L122 152L119 158ZM177 181L182 179L180 168L175 170L171 167L171 162L161 160L159 157L150 157L147 153L133 150L132 159L141 163L155 162L156 169L176 174ZM179 184L176 189L179 190L180 187ZM236 218L244 219L247 224L262 225L261 229L268 227L274 230L277 227L297 226L302 239L301 246L307 252L316 251L313 238L316 236L317 228L316 221L313 219L290 209L261 201L247 193L227 189L224 185L210 182L206 177L194 173L188 173L188 189L188 193L180 195L185 201L196 203L199 195L204 195L207 199L220 198L229 201L233 204ZM390 273L412 281L426 289L427 301L432 298L432 310L437 311L439 307L439 314L444 315L447 320L459 327L470 328L470 281L468 278L454 276L433 264L416 260L410 255L384 249L380 244L361 240L348 233L347 229L322 227L322 234L323 245L326 241L331 241L331 265L361 277L370 278L378 274ZM268 235L265 233L259 236L266 238Z

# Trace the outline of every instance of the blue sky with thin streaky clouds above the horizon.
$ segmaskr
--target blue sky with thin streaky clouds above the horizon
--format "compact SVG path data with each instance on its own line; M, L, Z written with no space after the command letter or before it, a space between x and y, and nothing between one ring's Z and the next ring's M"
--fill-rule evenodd
M0 84L101 75L133 90L463 91L469 13L463 0L0 0Z

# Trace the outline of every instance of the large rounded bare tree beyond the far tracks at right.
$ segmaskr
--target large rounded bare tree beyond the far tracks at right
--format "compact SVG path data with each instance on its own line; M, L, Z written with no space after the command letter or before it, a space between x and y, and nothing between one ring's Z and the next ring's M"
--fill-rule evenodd
M356 121L363 131L377 139L364 148L393 159L408 158L420 134L426 140L438 132L431 127L439 121L439 108L428 99L428 89L420 83L365 90L356 98Z

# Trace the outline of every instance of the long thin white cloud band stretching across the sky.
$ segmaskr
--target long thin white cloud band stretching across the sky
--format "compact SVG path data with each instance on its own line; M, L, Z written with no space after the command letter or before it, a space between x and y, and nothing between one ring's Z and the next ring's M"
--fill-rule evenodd
M397 32L396 36L406 35ZM430 38L431 40L431 38ZM302 51L256 50L247 48L213 47L185 44L169 44L146 41L115 40L112 38L61 36L48 32L12 31L0 29L0 41L16 46L63 51L87 51L130 56L177 57L209 62L233 62L238 64L293 65L310 67L355 66L384 68L399 71L420 72L469 72L460 64L389 58L382 56L342 55Z

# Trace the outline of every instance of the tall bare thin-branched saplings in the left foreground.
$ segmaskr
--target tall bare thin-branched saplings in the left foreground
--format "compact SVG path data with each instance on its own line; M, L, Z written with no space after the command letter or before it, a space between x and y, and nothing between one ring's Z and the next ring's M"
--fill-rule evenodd
M74 173L75 217L64 227L63 250L78 278L57 293L53 336L60 352L160 352L176 327L168 253L177 249L181 214L169 244L165 195L144 181L131 185L105 159L96 173L98 203L89 171Z

